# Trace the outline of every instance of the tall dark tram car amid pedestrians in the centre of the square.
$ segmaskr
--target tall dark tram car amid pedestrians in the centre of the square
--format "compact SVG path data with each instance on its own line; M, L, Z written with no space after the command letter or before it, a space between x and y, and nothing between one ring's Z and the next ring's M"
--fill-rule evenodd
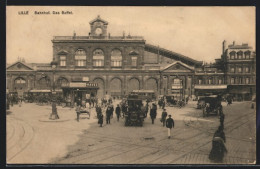
M125 113L125 126L143 126L145 112L143 111L142 98L130 94L127 97L128 109Z

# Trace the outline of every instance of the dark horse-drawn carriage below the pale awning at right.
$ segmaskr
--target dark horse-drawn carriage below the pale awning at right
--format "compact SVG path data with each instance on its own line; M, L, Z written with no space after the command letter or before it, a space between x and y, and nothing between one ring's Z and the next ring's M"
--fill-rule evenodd
M199 101L198 101L199 102ZM219 115L221 109L221 97L216 95L205 96L200 100L203 117L210 114Z

